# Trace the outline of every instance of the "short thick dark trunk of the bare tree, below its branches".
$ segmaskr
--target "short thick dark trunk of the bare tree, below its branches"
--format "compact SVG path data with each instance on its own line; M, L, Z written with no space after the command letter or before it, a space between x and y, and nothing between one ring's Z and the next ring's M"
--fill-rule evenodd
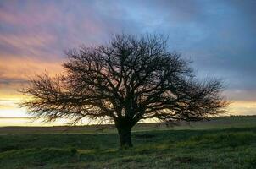
M120 136L120 146L121 147L132 147L131 144L131 128L130 127L119 127L117 128L118 134Z

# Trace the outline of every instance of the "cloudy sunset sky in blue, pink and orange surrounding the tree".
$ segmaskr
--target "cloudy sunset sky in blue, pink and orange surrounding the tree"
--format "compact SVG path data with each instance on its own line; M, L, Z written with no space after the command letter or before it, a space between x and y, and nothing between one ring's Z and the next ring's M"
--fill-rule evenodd
M168 36L198 78L224 79L229 114L256 114L255 8L255 0L1 0L0 117L29 116L17 90L36 74L62 72L64 50L120 33Z

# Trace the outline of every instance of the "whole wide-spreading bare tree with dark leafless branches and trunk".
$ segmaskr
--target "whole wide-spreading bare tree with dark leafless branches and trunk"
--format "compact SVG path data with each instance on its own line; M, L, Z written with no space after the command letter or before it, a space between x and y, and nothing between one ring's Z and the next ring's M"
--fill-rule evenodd
M68 117L114 122L120 144L144 119L198 121L224 112L217 79L194 78L190 62L167 50L161 35L114 35L108 44L66 52L65 74L31 79L21 105L48 121Z

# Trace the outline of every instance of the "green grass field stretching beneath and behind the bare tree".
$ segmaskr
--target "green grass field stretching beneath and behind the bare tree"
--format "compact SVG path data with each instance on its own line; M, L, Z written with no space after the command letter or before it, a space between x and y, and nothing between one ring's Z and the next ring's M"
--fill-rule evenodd
M0 168L256 168L256 117L155 128L139 124L134 147L114 129L0 128Z

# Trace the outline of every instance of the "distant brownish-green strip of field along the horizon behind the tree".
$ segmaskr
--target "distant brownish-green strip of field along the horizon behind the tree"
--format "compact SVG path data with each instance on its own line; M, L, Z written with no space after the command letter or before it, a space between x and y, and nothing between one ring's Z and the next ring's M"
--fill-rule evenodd
M11 125L11 124L10 124ZM256 116L214 117L209 121L180 123L166 128L160 123L138 123L133 131L147 130L181 130L181 129L213 129L213 128L252 128L256 127ZM54 126L54 127L0 127L0 134L95 134L115 133L114 125L90 126Z

